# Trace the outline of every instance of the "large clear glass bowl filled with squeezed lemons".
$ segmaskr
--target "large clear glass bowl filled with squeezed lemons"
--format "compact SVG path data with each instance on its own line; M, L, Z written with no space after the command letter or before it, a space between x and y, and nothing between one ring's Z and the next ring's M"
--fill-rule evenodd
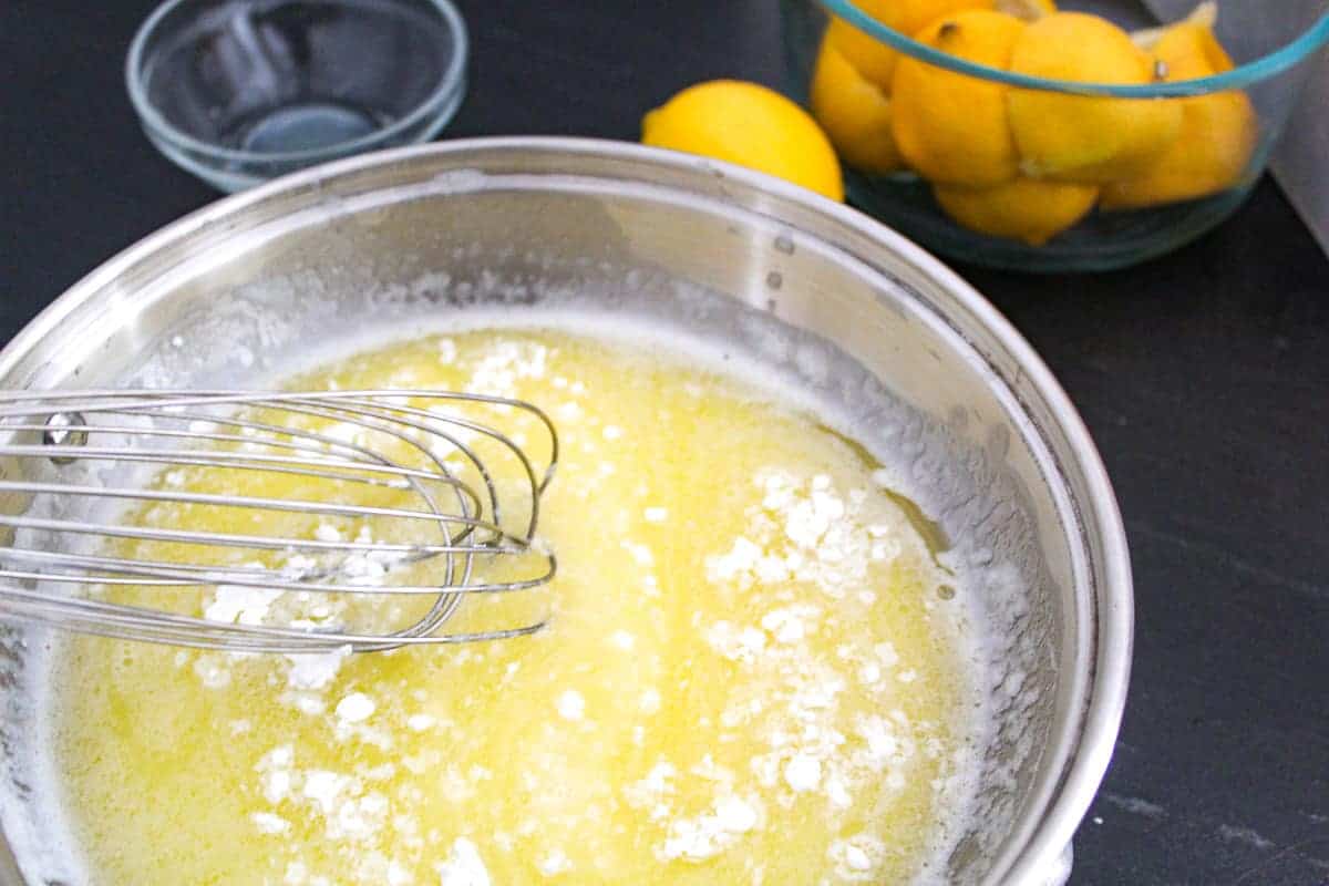
M1126 267L1215 227L1329 41L1322 0L783 0L783 15L788 92L849 202L1025 271Z

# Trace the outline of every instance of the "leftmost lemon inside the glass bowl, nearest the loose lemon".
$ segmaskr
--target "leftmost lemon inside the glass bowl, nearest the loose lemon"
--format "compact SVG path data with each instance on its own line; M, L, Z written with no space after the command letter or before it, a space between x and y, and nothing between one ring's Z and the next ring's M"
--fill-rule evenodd
M900 151L890 134L890 100L855 70L829 39L821 41L817 53L809 104L849 166L878 175L900 169Z

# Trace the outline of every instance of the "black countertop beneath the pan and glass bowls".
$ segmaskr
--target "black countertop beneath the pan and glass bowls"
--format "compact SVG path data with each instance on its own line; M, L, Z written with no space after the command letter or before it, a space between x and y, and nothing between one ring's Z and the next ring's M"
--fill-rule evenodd
M461 5L472 88L448 135L635 138L692 81L780 77L775 0ZM0 0L0 336L215 197L130 112L148 12ZM1131 537L1131 699L1073 882L1329 883L1329 263L1264 182L1132 271L961 270L1079 406Z

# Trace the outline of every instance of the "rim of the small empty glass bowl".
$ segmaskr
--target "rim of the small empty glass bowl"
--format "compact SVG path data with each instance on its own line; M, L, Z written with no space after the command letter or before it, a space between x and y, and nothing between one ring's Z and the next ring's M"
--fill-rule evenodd
M447 106L457 92L464 89L466 58L469 56L466 23L462 20L461 13L457 12L457 8L451 3L451 0L424 0L440 15L440 21L452 35L453 52L447 66L444 68L439 84L407 114L403 114L387 126L375 129L371 133L359 135L358 138L350 138L343 142L336 142L326 147L299 151L253 151L222 147L215 142L195 138L178 126L170 124L149 100L146 84L141 76L148 52L148 43L157 36L158 25L161 25L162 20L186 3L206 1L207 0L166 0L166 3L162 3L153 9L152 15L148 16L144 24L138 27L138 31L134 33L133 43L129 45L129 54L125 57L125 84L129 90L130 104L133 104L134 110L138 112L140 118L152 134L161 135L173 145L195 151L207 158L234 163L284 162L310 165L323 159L334 159L347 154L356 154L389 141L395 135L416 126L421 121L427 120L431 113ZM346 0L315 1L324 3L326 5L342 5Z

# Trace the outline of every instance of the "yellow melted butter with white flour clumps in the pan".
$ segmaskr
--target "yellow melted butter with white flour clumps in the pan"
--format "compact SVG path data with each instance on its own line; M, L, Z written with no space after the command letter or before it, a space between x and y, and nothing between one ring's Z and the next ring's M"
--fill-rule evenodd
M286 656L69 642L57 766L97 882L917 875L968 735L958 604L855 446L682 359L557 332L403 343L294 383L332 385L550 413L553 623L351 656L306 691ZM233 529L178 505L137 519Z

